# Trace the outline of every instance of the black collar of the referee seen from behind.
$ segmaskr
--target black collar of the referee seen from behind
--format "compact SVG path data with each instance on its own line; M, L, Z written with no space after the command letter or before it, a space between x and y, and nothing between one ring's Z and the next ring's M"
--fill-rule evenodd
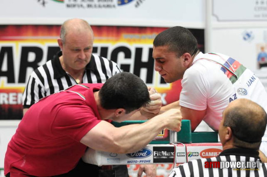
M254 149L246 149L246 148L230 148L223 150L219 156L222 155L238 155L238 156L246 156L246 157L254 157L259 158L259 152Z

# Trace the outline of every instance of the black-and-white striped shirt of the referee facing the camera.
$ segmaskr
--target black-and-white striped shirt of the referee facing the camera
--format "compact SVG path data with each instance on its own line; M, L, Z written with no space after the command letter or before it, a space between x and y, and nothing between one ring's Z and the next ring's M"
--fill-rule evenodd
M30 75L23 93L23 108L29 108L35 101L77 84L74 78L62 68L58 52L52 60L36 68ZM121 72L111 60L92 54L85 67L82 83L104 83L108 78Z

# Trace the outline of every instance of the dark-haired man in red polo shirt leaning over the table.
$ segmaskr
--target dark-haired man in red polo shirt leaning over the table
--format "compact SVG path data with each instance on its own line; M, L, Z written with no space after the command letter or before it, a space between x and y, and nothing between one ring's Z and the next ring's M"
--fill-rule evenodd
M8 144L5 175L64 174L77 165L87 147L131 153L147 145L163 128L180 130L178 109L143 124L119 128L103 121L124 121L149 101L145 83L127 72L112 76L104 84L78 84L44 97L26 112Z

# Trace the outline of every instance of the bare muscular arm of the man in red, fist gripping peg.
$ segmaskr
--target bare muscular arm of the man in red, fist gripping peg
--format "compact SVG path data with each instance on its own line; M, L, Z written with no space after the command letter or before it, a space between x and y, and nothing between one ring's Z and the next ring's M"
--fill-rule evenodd
M143 124L114 127L106 121L101 121L82 137L80 142L100 151L131 153L146 146L164 128L180 131L181 119L179 110L171 109Z

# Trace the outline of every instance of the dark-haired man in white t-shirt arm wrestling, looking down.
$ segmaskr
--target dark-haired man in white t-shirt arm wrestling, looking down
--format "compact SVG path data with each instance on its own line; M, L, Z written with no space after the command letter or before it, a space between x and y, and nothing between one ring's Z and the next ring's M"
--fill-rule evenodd
M222 112L238 98L250 99L267 110L267 93L259 78L237 60L198 50L192 33L184 27L171 27L153 42L155 70L167 83L182 79L177 102L161 108L180 108L183 119L191 120L192 130L204 120L219 130ZM253 117L252 117L253 118ZM267 153L267 132L260 150Z

